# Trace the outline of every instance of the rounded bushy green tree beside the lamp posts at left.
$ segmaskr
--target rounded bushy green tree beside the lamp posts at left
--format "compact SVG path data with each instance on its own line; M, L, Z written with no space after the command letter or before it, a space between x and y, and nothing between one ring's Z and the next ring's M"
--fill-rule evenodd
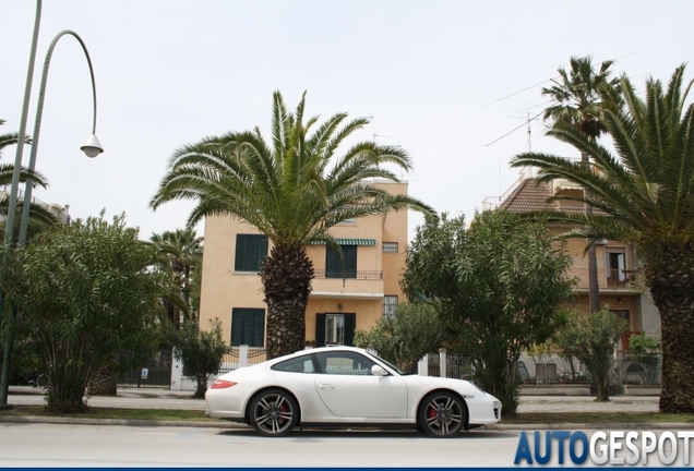
M15 259L17 331L41 359L51 411L86 409L95 369L121 351L156 348L157 309L172 279L148 269L154 247L124 216L76 220L44 232Z

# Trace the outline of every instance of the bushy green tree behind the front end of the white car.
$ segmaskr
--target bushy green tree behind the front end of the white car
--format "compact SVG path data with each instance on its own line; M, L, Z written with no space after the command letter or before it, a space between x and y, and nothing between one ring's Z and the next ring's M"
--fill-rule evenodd
M407 251L403 291L440 306L451 350L472 361L475 378L515 413L520 353L546 341L572 294L571 257L542 221L503 210L428 217Z

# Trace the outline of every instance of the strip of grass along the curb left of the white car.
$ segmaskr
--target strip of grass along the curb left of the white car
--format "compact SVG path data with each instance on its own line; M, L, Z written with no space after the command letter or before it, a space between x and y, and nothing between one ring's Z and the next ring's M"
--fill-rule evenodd
M47 411L44 406L15 406L13 409L0 411L2 415L14 416L61 416L61 418L83 418L83 419L121 419L121 420L146 420L146 421L204 421L217 422L218 419L211 419L205 415L205 411L180 410L180 409L113 409L113 408L89 408L87 412L57 413Z

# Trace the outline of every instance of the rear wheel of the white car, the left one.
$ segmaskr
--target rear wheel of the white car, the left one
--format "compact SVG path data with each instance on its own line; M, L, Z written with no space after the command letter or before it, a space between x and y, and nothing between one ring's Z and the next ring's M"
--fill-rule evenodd
M267 389L251 402L251 425L263 436L285 436L299 421L299 404L282 389Z

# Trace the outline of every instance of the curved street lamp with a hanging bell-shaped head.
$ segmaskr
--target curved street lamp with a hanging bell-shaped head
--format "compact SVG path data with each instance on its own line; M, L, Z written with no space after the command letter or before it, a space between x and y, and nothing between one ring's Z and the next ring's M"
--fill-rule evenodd
M61 37L70 35L74 37L82 46L82 50L84 51L84 56L86 57L87 64L89 65L89 75L92 77L92 96L94 98L94 120L92 122L92 135L87 138L80 149L86 154L87 157L96 157L97 155L104 152L104 147L99 143L99 140L96 137L96 82L94 81L94 68L92 67L92 58L89 57L89 51L87 51L84 41L73 31L64 29L56 35L53 40L50 43L48 47L48 52L46 52L46 60L44 61L44 72L41 74L41 84L38 88L38 102L36 105L36 120L34 122L34 134L32 135L32 153L29 154L29 171L34 171L36 167L36 154L38 153L38 137L40 134L41 128L41 118L44 116L44 98L46 96L46 81L48 80L48 68L50 67L50 60L53 56L53 50L56 49L56 45ZM26 180L26 186L24 190L24 204L22 205L22 220L20 221L20 239L17 241L19 246L24 246L26 243L26 232L28 228L28 216L29 216L29 205L32 202L32 189L34 188L34 181L32 179Z

